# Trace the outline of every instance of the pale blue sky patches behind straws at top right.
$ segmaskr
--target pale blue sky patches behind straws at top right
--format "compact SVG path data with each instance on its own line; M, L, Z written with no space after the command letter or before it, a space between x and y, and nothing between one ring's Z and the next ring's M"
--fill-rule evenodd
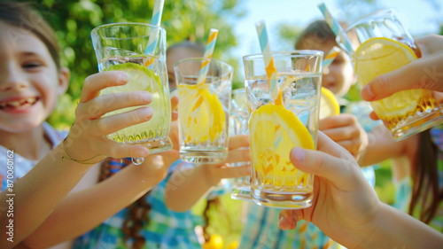
M269 43L273 51L292 50L291 44L279 43L276 39L276 27L281 23L295 24L306 27L315 19L323 19L317 5L324 3L337 19L344 19L345 13L338 8L336 0L240 0L245 6L245 17L228 20L233 24L237 35L238 46L233 54L241 61L242 55L259 53L260 45L255 30L255 22L266 21ZM443 0L385 0L377 1L379 9L393 8L400 20L413 36L435 34L439 32L439 24L443 23ZM369 14L360 10L364 14ZM242 63L240 63L242 65ZM243 69L242 69L243 70ZM243 72L243 71L240 71Z

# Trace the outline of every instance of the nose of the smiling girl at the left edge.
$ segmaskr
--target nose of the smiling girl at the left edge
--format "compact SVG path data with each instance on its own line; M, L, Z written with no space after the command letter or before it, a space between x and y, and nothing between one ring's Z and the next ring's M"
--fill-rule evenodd
M6 66L5 71L6 72L2 72L3 80L0 80L0 91L27 88L27 80L21 72L21 67L10 64Z

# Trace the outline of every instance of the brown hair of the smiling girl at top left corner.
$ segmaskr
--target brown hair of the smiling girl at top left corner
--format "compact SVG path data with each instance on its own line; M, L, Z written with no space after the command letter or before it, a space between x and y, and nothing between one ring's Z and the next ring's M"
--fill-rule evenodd
M37 36L50 51L54 63L60 69L59 47L54 31L43 17L35 12L31 4L0 2L0 21L20 29L21 34L6 32L6 35L15 35L12 37L18 38L18 35L26 35L26 32L31 32Z

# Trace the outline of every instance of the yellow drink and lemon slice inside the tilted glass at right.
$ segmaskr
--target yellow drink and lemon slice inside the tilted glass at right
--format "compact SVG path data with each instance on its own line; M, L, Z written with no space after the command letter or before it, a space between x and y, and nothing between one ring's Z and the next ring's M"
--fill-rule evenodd
M380 74L386 74L416 59L407 45L384 37L370 38L355 52L354 70L363 87ZM417 88L420 82L417 82ZM439 104L430 90L411 89L371 102L377 116L394 135L403 136L410 128L418 128L441 115L432 113ZM406 136L404 136L406 137ZM403 137L403 138L404 138Z

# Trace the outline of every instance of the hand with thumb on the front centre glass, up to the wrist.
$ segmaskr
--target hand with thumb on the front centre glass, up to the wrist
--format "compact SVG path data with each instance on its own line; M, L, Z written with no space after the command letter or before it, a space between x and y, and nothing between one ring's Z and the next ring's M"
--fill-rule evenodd
M280 228L295 229L304 219L340 244L357 247L361 240L353 233L369 235L380 201L361 174L354 158L322 132L318 151L292 149L294 167L315 175L312 206L280 212ZM364 231L364 232L363 232Z

